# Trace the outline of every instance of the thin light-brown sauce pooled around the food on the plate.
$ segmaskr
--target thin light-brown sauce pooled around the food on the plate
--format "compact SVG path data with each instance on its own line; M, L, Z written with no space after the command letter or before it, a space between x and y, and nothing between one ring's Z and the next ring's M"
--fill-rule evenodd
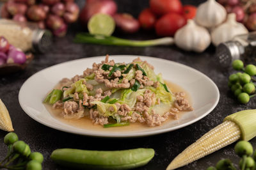
M165 81L165 82L166 82L166 85L168 86L168 88L170 88L173 93L181 92L181 91L186 93L186 99L189 101L189 104L191 104L191 98L189 96L189 93L186 90L184 90L183 88L181 88L180 86L178 86L177 84L174 84L172 82L168 82L168 81ZM56 86L56 88L58 88L58 85ZM63 123L72 125L77 128L84 128L87 130L99 130L99 131L104 130L107 132L108 131L109 132L131 131L131 130L137 130L138 128L140 128L140 129L150 128L145 123L130 123L129 126L125 126L125 127L104 128L101 125L93 125L92 120L90 120L90 118L87 118L87 117L80 118L79 120L62 118L61 117L62 109L52 109L52 105L49 105L49 104L44 104L44 105L45 105L47 111L49 111L54 118L56 118L57 120L59 120ZM186 112L179 112L179 116L182 116L182 114L186 114ZM168 123L169 121L172 121L172 118L169 118L168 120L164 121L162 123L162 125L164 125L165 123Z

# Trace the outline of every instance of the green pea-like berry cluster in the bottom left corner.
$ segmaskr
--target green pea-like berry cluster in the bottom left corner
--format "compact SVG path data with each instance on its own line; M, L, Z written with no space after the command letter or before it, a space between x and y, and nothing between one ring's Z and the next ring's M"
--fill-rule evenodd
M19 141L17 134L6 134L4 143L8 146L8 153L0 162L0 169L42 170L43 155L39 152L31 153L28 144Z

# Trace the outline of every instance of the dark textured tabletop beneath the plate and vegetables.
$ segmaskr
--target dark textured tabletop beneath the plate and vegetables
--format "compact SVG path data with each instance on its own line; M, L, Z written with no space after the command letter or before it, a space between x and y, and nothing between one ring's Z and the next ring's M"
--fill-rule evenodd
M78 1L81 5L84 1ZM202 1L182 1L183 4L198 5ZM116 0L118 3L118 12L129 12L135 17L145 7L148 6L147 0L131 1ZM209 47L205 52L197 54L194 52L184 52L177 47L113 47L101 45L75 44L72 39L77 31L83 31L78 24L69 28L68 35L65 38L56 38L54 46L46 54L36 54L35 59L24 72L0 77L0 98L10 112L13 127L21 140L29 144L32 151L40 151L44 157L44 169L63 169L56 166L49 158L51 152L57 148L78 148L86 150L124 150L131 148L154 148L155 157L146 166L139 169L165 169L168 164L184 150L189 144L192 144L200 136L219 125L223 118L233 112L244 109L255 108L255 100L250 104L241 105L232 98L228 92L227 83L230 70L220 70L214 65L214 47ZM148 39L155 38L154 33L145 33L141 31L135 35L115 35L124 38ZM152 56L164 58L184 65L191 66L214 81L220 89L220 102L217 107L205 118L188 127L150 137L138 137L133 139L99 139L81 135L68 134L45 127L32 120L21 109L18 100L20 86L34 73L72 59L88 58L92 56L101 56L105 54L134 54L142 56ZM42 84L44 86L44 84ZM40 87L38 87L40 90ZM207 95L207 94L205 94ZM7 133L0 130L0 159L3 159L6 153L6 146L3 143L3 137ZM256 146L256 140L251 143ZM231 144L222 150L216 151L211 155L201 158L180 169L206 169L218 162L221 158L230 158L237 164L239 157L234 153L234 144Z

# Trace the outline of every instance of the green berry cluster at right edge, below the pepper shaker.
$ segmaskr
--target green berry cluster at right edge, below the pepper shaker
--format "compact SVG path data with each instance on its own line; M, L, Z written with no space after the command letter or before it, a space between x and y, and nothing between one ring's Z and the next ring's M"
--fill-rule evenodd
M255 93L255 84L252 81L256 81L253 78L256 75L256 66L247 65L244 68L244 63L240 59L233 61L232 66L235 70L241 70L244 73L237 72L230 75L228 87L231 88L241 104L247 104L250 98L255 97L255 95L252 95Z

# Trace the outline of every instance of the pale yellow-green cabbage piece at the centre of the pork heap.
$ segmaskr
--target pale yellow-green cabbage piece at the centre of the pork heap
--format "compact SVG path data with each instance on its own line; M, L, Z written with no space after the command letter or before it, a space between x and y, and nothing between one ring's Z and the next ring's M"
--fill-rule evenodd
M143 95L145 91L146 89L138 89L137 91L132 91L131 89L123 89L119 102L122 104L127 104L132 108L136 104L137 97Z

